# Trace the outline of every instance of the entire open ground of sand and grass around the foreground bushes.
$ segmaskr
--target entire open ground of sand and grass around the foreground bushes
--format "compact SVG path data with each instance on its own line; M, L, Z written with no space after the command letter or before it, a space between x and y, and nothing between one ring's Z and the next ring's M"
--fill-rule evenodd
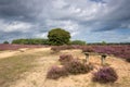
M10 52L14 52L10 54ZM3 54L5 54L2 57ZM92 73L101 66L100 55L91 55L90 62L94 70L88 74L69 75L56 80L47 79L47 72L53 65L60 65L58 57L70 53L75 58L84 59L79 49L63 50L53 53L51 48L29 48L15 51L0 52L0 87L129 87L130 63L107 57L106 63L114 67L119 76L114 84L99 84L91 82ZM9 57L8 57L9 54Z

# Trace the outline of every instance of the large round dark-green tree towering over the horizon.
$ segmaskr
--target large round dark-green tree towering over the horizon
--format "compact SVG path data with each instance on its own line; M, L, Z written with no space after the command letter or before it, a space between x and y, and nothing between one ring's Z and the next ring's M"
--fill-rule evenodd
M67 45L70 39L70 34L65 29L54 28L49 32L48 38L49 38L50 45L56 45L56 46Z

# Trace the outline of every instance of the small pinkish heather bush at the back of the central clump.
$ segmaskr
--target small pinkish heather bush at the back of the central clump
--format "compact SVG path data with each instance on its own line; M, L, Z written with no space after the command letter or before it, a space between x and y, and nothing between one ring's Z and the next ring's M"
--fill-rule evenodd
M70 60L73 60L73 55L72 54L62 54L62 55L60 55L60 59L58 59L58 61L62 64L65 64L65 63L69 62Z

